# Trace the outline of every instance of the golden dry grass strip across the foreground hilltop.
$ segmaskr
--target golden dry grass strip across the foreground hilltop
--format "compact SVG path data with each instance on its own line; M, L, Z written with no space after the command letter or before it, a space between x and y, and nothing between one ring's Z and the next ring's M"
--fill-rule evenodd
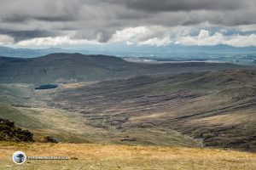
M15 165L12 155L69 156L68 161ZM105 144L0 143L0 169L256 169L256 154L205 148L143 147Z

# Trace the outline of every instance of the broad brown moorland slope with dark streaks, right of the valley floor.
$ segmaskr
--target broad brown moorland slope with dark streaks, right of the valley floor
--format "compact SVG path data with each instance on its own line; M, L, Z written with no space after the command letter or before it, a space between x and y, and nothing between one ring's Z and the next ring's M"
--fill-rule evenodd
M252 70L135 77L63 88L46 93L47 98L42 95L38 94L49 106L83 114L91 127L130 132L131 143L147 144L135 132L157 131L164 136L175 131L201 140L204 146L256 149L256 72Z

